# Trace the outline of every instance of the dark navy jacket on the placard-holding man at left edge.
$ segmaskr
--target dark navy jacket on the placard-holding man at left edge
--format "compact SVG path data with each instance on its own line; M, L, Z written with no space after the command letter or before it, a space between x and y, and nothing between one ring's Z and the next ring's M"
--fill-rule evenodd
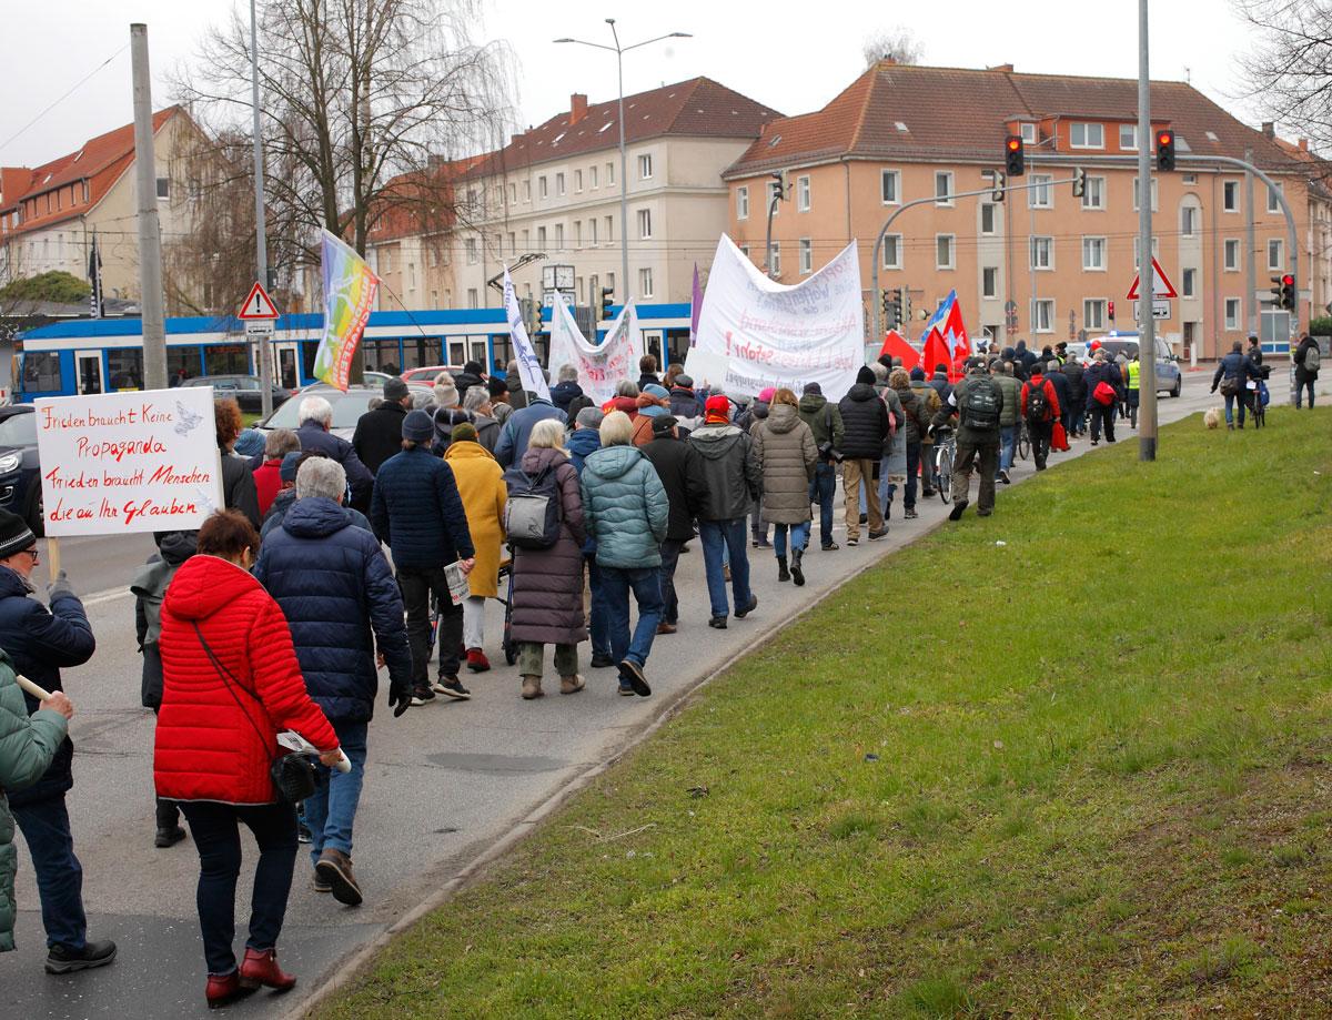
M97 648L88 614L73 595L57 595L51 609L28 594L23 578L0 567L0 648L9 652L15 672L39 687L60 691L60 668L83 666ZM28 715L37 711L37 699L24 692ZM69 763L75 746L67 736L45 775L27 790L9 795L13 807L59 796L73 784Z

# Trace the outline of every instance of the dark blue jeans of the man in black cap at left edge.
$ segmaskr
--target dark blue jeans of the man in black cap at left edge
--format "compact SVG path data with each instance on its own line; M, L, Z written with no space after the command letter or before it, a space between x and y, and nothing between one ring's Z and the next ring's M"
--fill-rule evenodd
M28 843L28 856L37 876L47 948L64 945L81 949L88 935L88 917L83 909L83 866L75 856L65 795L11 810Z

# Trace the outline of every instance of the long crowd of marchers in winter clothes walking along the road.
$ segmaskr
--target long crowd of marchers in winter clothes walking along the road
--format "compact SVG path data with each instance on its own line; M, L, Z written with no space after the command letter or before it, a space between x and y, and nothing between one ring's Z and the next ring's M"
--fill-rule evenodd
M1316 345L1300 344L1295 362L1312 406ZM198 531L155 535L157 553L131 586L141 700L157 716L153 839L184 840L184 818L198 852L208 1004L296 983L276 945L302 842L310 887L362 901L353 831L381 670L396 716L469 700L464 671L492 668L486 602L501 599L500 647L523 700L547 692L546 646L561 695L586 690L585 670L613 668L619 694L650 696L654 642L686 626L675 574L695 541L706 622L725 630L758 610L763 569L751 553L773 557L775 583L803 586L815 514L819 551L838 550L839 474L847 546L887 535L899 493L911 519L918 498L951 485L950 517L960 519L974 473L987 517L1023 439L1039 471L1072 439L1114 443L1122 417L1136 425L1135 365L1103 349L1084 362L1063 344L1038 354L1019 342L970 358L955 382L944 365L927 377L884 357L836 401L818 382L741 401L695 387L678 366L659 378L646 356L639 380L595 406L570 366L546 398L522 390L515 366L486 378L469 364L436 378L426 406L389 380L352 441L330 431L317 389L300 398L298 429L266 435L242 430L236 403L218 401L226 509ZM1259 374L1239 345L1217 366L1227 421L1237 403L1243 427L1245 403L1232 397ZM951 475L940 478L944 451ZM37 562L27 523L0 510L0 951L13 948L16 823L36 871L47 969L68 973L116 955L115 943L88 937L65 808L73 706L60 670L87 663L95 639L64 574L45 605L36 598ZM49 696L20 696L16 674ZM298 760L280 752L285 730L306 742ZM241 826L258 863L237 961Z

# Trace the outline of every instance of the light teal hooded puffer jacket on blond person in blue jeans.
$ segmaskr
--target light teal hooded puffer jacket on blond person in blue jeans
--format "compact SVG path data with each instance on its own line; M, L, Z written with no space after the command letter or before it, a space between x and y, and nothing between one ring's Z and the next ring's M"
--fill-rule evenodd
M653 462L634 446L587 454L582 473L583 518L597 539L597 565L637 570L662 565L670 499Z

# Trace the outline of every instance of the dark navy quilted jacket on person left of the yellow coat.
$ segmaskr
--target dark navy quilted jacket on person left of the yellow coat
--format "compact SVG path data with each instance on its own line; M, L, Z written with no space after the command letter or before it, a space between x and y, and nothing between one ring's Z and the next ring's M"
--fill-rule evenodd
M476 553L453 469L424 446L380 465L370 525L400 570L432 570Z

